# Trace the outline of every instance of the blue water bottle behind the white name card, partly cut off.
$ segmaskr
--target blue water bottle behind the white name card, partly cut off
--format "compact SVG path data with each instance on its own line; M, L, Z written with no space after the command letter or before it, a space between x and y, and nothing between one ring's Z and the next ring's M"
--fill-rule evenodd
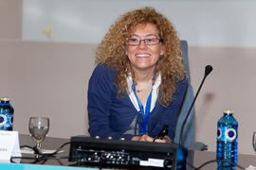
M0 102L0 130L12 130L13 108L9 98L1 98Z

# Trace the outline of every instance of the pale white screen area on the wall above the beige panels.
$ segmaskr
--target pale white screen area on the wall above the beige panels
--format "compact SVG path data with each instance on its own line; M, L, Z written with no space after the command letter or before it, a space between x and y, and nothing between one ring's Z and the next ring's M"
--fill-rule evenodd
M119 15L145 6L191 45L256 46L253 0L24 0L23 39L46 41L41 29L52 24L52 41L98 43Z

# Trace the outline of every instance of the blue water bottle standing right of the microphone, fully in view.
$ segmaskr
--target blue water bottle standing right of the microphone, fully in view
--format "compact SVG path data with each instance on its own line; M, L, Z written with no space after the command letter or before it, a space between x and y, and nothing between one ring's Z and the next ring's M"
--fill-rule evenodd
M232 110L224 110L224 114L218 121L216 159L218 170L235 169L237 163L237 127L238 123L233 117Z

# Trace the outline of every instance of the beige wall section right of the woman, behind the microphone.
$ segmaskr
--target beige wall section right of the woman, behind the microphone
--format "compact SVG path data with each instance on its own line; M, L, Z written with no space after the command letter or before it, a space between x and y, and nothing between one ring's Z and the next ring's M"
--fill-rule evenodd
M238 152L254 154L252 132L256 101L256 48L190 47L192 87L197 90L205 65L211 64L207 77L195 102L196 140L216 148L217 121L223 110L234 110L238 126Z

